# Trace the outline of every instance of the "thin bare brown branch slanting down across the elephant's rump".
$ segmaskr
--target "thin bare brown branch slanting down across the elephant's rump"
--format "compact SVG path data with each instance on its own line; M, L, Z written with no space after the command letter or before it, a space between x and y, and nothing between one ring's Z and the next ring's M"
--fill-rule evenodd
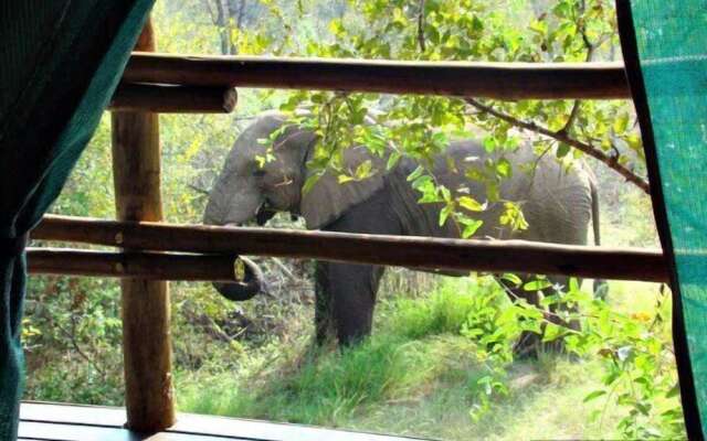
M508 114L505 114L503 111L496 110L494 109L492 106L487 106L485 104L482 104L481 101L474 99L474 98L464 98L464 100L472 107L474 107L475 109L483 111L485 114L492 115L498 119L502 119L508 123L510 123L514 127L517 127L519 129L524 129L524 130L529 130L532 131L535 133L539 133L542 136L546 136L548 138L552 138L557 141L560 142L564 142L566 144L576 148L577 150L582 151L585 154L589 154L590 157L597 159L598 161L603 162L606 166L609 166L611 170L615 171L616 173L621 174L626 181L631 182L632 184L636 185L639 189L643 190L646 194L651 194L651 187L648 185L648 182L639 176L637 174L635 174L632 170L630 170L629 168L626 168L625 165L619 163L619 155L609 155L606 153L604 153L602 150L579 141L577 139L570 138L564 131L560 130L560 131L552 131L549 130L545 127L538 126L535 122L531 121L523 121L514 116L510 116Z

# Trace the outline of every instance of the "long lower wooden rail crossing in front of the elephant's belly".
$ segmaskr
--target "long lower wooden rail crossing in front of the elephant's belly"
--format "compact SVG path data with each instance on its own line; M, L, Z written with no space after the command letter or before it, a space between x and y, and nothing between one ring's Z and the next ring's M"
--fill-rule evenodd
M421 270L515 271L654 282L668 279L658 250L523 240L122 223L63 216L45 216L31 237L139 250L313 258Z

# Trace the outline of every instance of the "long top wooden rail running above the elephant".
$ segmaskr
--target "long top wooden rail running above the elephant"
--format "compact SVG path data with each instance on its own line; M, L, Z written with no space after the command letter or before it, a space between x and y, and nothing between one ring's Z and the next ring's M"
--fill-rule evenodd
M630 98L621 63L393 62L135 52L123 79L495 99Z

